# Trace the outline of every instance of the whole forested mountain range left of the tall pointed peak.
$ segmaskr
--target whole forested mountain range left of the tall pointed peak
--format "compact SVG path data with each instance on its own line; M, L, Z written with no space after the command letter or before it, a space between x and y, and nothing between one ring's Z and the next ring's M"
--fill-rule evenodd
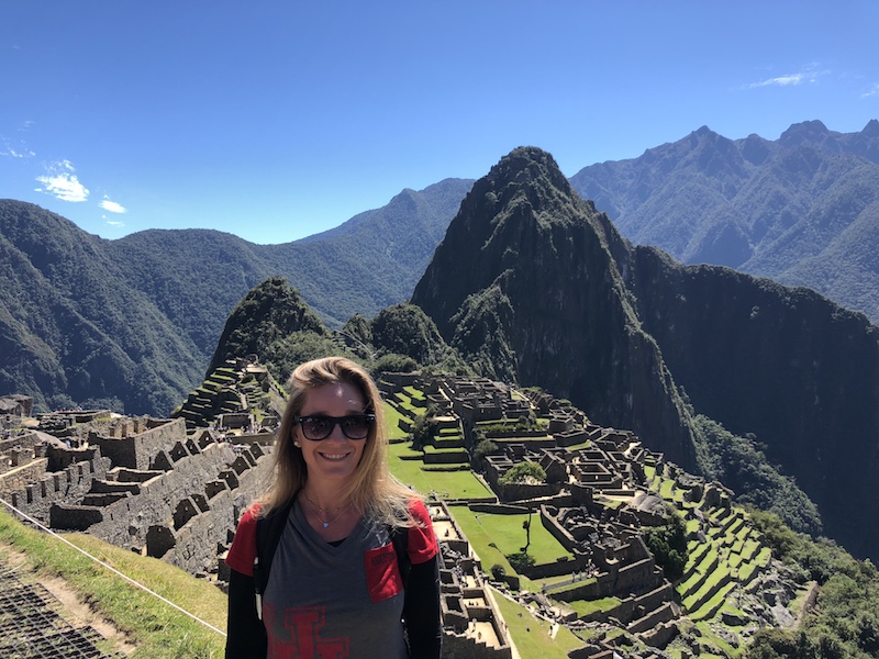
M404 190L285 245L208 230L105 241L0 200L0 393L32 395L43 410L165 416L203 379L230 312L269 277L293 282L336 327L405 300L470 185Z

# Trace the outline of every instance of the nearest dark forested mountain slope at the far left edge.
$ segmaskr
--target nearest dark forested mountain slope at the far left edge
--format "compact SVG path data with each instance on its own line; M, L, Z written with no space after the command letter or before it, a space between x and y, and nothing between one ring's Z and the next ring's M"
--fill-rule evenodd
M0 391L54 409L178 403L198 351L124 268L68 220L0 202Z

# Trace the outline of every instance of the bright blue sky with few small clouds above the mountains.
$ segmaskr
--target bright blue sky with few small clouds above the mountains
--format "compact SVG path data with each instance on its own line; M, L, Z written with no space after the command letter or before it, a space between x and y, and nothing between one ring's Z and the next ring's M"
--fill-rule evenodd
M879 2L4 0L0 198L283 243L520 145L879 119Z

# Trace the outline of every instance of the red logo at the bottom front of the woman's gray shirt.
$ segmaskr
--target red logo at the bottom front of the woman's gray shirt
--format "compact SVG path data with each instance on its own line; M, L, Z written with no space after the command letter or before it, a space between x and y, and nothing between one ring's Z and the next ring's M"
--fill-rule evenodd
M266 628L272 629L274 607L266 606L265 618ZM290 639L270 635L268 656L271 659L345 659L349 654L349 639L321 638L319 632L325 622L325 606L286 608L283 626L290 630Z

